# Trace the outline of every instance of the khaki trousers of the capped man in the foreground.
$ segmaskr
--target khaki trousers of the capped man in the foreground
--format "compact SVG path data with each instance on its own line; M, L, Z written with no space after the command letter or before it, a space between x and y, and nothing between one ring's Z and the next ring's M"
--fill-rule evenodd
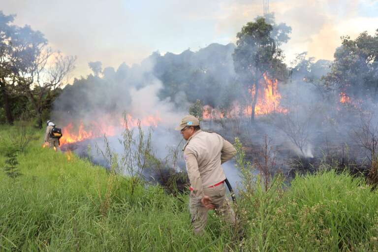
M216 187L205 188L204 193L211 198L212 203L215 205L216 213L221 215L224 221L234 224L236 221L235 213L226 198L224 183ZM209 209L202 205L201 199L195 196L192 191L190 191L189 196L189 210L194 233L201 234L207 222Z

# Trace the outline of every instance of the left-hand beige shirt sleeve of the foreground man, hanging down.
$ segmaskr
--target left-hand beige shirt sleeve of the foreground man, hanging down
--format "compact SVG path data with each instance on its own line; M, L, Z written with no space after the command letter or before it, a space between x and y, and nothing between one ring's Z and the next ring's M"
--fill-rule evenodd
M190 185L193 188L193 193L197 197L202 198L204 196L204 193L202 189L201 176L198 170L197 158L189 150L184 151L184 158L185 158L185 163L187 166Z

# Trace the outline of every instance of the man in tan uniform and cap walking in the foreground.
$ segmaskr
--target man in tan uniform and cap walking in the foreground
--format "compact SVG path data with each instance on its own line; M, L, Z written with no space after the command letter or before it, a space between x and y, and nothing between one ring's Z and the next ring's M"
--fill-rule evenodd
M184 158L190 181L189 208L194 233L201 234L210 209L215 209L225 221L235 223L235 213L228 203L221 164L236 155L236 150L217 133L202 131L194 116L186 116L180 126Z

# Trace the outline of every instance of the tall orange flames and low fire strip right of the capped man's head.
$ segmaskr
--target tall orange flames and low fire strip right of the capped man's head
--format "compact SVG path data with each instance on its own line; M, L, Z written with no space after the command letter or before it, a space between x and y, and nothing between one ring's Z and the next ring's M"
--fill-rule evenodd
M281 94L278 92L278 80L271 80L264 74L264 80L260 83L260 88L257 94L257 101L254 107L254 113L256 116L266 115L272 112L276 113L287 113L287 109L280 106ZM254 97L255 88L250 88L248 93ZM238 103L235 103L230 111L225 115L220 111L213 109L211 106L204 106L204 111L202 117L204 119L217 119L243 116L251 117L252 114L252 105L249 105L243 109Z

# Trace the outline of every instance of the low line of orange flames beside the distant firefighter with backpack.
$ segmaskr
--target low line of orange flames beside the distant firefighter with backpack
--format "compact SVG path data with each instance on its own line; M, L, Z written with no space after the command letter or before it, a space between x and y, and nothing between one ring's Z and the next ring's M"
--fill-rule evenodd
M131 115L126 115L127 127L133 128L138 125L138 119L134 119ZM154 126L157 127L161 122L158 116L147 116L140 120L141 126ZM69 123L62 127L62 138L60 139L61 145L70 144L75 142L81 142L87 139L93 139L106 136L114 136L122 131L125 127L124 118L119 120L114 120L111 118L102 118L96 121L84 124L80 122L79 126L74 126Z

